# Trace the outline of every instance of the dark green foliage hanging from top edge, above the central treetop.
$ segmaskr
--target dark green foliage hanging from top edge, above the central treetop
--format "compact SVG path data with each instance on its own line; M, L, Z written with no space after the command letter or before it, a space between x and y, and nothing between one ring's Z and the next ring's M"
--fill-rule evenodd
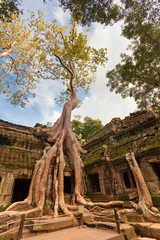
M59 0L64 10L69 9L74 19L83 25L100 22L108 25L122 18L121 8L114 0Z

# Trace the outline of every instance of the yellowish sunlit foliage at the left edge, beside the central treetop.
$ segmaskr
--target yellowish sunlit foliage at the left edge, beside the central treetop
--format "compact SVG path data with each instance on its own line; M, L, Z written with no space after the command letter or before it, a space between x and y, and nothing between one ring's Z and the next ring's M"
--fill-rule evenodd
M41 67L36 33L31 31L20 15L12 21L0 20L0 94L13 105L22 107L38 82Z

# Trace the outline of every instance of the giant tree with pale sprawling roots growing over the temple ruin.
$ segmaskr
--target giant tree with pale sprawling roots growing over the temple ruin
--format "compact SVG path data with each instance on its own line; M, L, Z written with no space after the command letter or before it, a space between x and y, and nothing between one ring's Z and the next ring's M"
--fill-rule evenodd
M46 22L41 12L38 13L37 18L32 12L29 26L35 33L33 37L36 38L37 44L34 46L35 51L39 53L37 56L40 68L37 69L36 74L44 79L62 81L64 88L60 101L65 100L66 103L60 118L53 126L36 127L36 134L44 137L47 146L43 150L42 158L35 165L28 197L23 202L13 203L4 214L28 206L34 207L34 210L28 211L29 213L42 211L48 172L53 160L52 199L54 215L57 216L59 209L63 213L70 213L70 207L64 202L65 156L68 157L74 171L73 201L84 205L89 204L81 194L83 162L80 154L84 151L72 131L71 113L78 105L78 90L83 89L86 93L94 81L98 65L104 65L107 61L107 50L96 50L88 46L87 33L78 33L74 21L70 26L60 27L55 20L52 23Z

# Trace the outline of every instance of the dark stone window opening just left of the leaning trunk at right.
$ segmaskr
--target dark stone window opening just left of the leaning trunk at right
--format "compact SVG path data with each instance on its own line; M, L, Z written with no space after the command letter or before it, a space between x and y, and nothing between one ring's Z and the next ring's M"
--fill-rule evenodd
M136 182L131 170L125 170L122 172L122 183L126 191L135 190Z

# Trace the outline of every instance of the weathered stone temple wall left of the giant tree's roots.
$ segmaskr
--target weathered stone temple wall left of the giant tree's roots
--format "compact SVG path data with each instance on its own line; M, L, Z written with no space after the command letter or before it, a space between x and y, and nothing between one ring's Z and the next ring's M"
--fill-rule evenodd
M36 160L40 159L43 141L34 129L0 120L0 208L13 197L14 187L23 188L31 179ZM26 180L26 181L25 181ZM15 186L16 185L16 186Z

